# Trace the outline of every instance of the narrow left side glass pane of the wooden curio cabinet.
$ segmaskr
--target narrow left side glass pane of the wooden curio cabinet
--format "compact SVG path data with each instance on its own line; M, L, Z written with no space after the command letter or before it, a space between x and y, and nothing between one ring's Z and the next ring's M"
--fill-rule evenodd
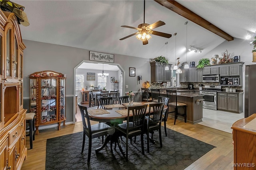
M36 113L36 79L30 79L30 113Z

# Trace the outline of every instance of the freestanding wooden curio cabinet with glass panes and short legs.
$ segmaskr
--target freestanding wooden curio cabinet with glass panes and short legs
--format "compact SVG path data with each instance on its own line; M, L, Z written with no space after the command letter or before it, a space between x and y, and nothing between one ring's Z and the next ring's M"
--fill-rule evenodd
M65 82L62 73L40 71L30 75L30 112L36 113L36 134L40 125L63 122L65 126Z

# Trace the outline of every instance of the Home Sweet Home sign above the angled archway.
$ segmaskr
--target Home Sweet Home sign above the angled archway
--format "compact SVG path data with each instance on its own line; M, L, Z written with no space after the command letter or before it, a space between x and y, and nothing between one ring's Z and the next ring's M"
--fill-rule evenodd
M89 60L114 63L114 54L106 54L106 53L89 51Z

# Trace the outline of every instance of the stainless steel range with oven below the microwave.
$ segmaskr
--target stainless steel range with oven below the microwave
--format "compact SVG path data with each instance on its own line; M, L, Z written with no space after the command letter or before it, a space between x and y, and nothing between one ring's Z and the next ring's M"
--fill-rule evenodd
M205 85L199 93L204 95L203 108L217 110L217 91L221 91L219 85Z

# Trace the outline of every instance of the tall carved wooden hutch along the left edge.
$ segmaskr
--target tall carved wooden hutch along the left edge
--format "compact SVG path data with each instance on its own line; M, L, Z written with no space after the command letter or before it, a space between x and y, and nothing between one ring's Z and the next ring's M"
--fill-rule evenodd
M21 169L27 155L23 109L23 50L12 12L0 10L0 169Z

